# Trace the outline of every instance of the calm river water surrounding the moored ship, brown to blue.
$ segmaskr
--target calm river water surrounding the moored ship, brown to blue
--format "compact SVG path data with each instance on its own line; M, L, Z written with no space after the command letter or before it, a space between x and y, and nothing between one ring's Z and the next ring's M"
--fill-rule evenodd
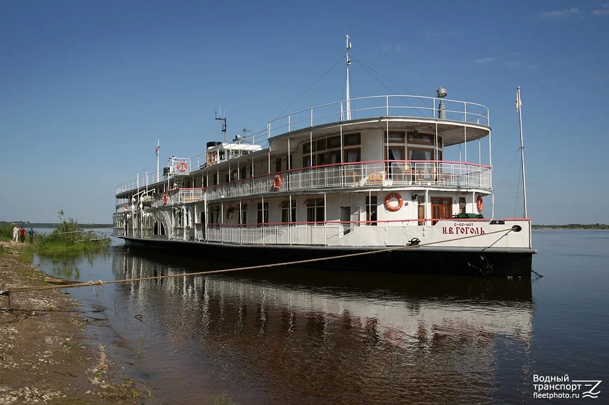
M609 232L533 240L542 279L276 268L68 292L104 309L91 341L158 403L543 403L533 375L607 378ZM122 244L34 264L77 280L232 266Z

